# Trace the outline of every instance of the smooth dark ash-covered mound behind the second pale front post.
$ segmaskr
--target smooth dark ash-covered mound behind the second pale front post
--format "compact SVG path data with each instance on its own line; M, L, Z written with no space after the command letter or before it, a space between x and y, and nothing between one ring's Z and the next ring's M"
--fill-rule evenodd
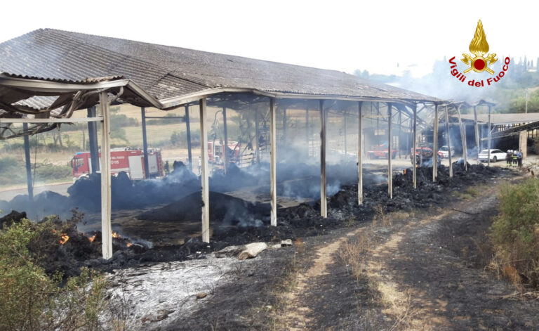
M261 226L269 221L270 204L253 203L218 192L210 192L210 221L220 225ZM199 192L143 212L139 219L191 223L200 222L202 197Z

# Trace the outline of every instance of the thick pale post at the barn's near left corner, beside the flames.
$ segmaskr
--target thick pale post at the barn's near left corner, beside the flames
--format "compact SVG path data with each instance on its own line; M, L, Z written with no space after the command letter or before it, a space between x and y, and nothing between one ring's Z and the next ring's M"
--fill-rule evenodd
M103 259L112 257L110 197L110 112L107 92L99 94L101 122L101 241Z

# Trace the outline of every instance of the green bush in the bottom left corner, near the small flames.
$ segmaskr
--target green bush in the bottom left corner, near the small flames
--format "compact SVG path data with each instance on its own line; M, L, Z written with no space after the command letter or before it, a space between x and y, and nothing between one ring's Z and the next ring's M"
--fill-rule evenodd
M0 231L0 330L98 330L105 308L105 278L83 269L62 283L39 266L46 242L61 233L52 221L27 219ZM45 241L42 241L46 238ZM62 286L60 286L62 285Z

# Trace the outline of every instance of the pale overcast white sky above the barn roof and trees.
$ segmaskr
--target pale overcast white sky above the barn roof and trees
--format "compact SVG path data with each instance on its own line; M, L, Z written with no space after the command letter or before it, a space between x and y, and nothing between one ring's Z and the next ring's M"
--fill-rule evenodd
M535 4L534 4L535 3ZM539 56L539 1L4 1L0 42L39 28L310 67L413 77L469 53Z

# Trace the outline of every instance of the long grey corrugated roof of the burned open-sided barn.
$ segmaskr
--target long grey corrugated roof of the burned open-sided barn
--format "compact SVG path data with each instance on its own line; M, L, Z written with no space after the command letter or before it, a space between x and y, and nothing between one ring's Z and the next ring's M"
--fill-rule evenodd
M35 30L0 44L0 71L80 80L118 75L166 98L238 88L314 96L441 100L352 74L60 30Z

